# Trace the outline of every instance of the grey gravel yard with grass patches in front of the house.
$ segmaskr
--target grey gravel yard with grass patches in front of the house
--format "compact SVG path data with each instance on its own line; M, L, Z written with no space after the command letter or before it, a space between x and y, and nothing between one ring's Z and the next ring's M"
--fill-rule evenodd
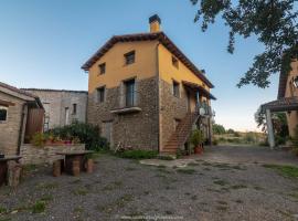
M209 148L187 168L146 166L103 155L96 159L94 173L79 177L54 178L51 167L31 168L15 190L0 188L0 221L146 220L146 217L147 220L150 217L207 221L298 220L298 179L281 177L263 167L260 162L270 160L266 156L278 161L278 155L285 155L272 151L262 159L263 150ZM226 160L228 152L228 164L220 161ZM245 159L245 152L247 156L255 152L257 159L240 160ZM280 164L295 164L287 154L283 159ZM44 211L38 207L39 202L45 204Z

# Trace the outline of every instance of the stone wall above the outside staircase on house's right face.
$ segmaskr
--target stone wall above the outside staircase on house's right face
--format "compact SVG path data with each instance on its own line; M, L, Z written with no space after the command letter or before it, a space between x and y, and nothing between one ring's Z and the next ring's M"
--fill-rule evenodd
M180 85L180 97L175 97L172 85L160 80L160 149L175 130L175 119L183 119L188 113L188 97Z

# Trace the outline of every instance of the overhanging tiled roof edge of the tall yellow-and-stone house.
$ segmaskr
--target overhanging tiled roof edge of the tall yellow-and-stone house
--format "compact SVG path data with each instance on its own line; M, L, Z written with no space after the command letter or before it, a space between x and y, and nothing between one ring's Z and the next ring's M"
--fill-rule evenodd
M110 50L117 42L131 41L153 41L158 40L172 54L174 54L188 69L190 69L199 78L201 78L209 87L214 87L213 84L205 77L205 75L178 49L178 46L163 33L138 33L115 35L110 38L83 66L82 69L88 71L89 67L96 63L108 50Z

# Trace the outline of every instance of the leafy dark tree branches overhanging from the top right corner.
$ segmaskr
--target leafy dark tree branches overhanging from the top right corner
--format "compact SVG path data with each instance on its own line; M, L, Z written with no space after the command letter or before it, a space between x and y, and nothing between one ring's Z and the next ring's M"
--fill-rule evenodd
M221 15L230 28L227 51L234 52L235 35L244 39L256 35L264 44L263 53L254 57L254 63L237 86L254 84L268 87L269 76L280 70L287 74L290 62L298 56L298 11L297 0L191 0L198 12L194 22L202 31Z

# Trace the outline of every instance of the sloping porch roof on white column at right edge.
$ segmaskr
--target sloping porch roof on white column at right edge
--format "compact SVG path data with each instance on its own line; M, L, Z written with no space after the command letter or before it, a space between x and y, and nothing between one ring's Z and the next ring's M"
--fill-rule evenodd
M298 110L298 96L281 97L279 99L263 104L262 112L270 109L272 112L290 112Z

